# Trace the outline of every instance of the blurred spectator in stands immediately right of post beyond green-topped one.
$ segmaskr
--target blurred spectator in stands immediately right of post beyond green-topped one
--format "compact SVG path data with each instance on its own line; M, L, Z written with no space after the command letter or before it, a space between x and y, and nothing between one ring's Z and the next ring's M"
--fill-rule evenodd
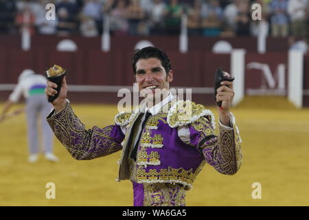
M189 35L201 35L203 1L195 0L187 12L187 30Z

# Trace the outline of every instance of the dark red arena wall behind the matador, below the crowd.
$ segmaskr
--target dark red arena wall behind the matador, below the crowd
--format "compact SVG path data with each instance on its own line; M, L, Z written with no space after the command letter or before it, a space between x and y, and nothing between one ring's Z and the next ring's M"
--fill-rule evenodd
M19 36L0 36L0 100L7 98L16 84L16 79L23 69L31 68L39 74L54 64L68 70L67 83L72 87L69 98L73 102L107 102L117 103L116 87L133 86L131 58L137 42L141 37L117 36L111 39L111 51L102 52L101 39L71 37L78 51L58 52L57 43L63 38L55 36L32 37L32 48L25 52L20 48ZM174 81L172 87L193 87L192 98L203 104L214 104L211 90L214 85L214 72L222 67L230 72L230 55L213 54L211 48L218 38L189 38L189 52L179 52L179 38L176 36L155 36L146 40L162 48L170 56ZM287 48L286 39L268 38L266 54L258 54L256 39L223 39L229 41L233 48L246 48L245 55L245 94L277 94L286 96ZM275 43L277 41L277 43ZM48 42L48 43L46 43ZM304 57L304 106L309 106L309 56ZM255 63L255 65L252 63ZM264 67L258 67L258 64ZM280 67L281 65L281 67ZM265 68L269 69L268 74ZM281 68L281 69L280 69ZM283 72L284 81L280 81L279 72ZM269 73L271 75L269 75ZM3 86L5 85L5 86ZM78 89L76 85L97 86L91 91ZM283 87L282 87L283 86ZM79 87L80 88L80 87ZM111 89L112 88L112 89ZM202 88L202 90L201 90ZM205 88L205 91L203 91ZM198 92L195 92L197 91Z

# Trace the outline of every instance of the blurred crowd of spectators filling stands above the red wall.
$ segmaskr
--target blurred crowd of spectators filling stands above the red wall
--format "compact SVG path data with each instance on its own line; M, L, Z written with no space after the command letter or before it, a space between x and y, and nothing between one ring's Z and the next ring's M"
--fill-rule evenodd
M176 35L187 15L190 36L256 36L260 21L251 5L262 6L262 21L274 37L308 38L309 0L0 0L0 33L99 36L108 21L115 35ZM47 3L56 19L47 20Z

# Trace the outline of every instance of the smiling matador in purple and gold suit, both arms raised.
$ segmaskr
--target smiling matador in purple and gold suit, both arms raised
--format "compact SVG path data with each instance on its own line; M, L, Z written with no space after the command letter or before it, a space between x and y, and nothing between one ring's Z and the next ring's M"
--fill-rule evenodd
M230 112L232 82L223 81L217 89L216 101L222 101L217 107L217 135L211 111L170 92L173 72L165 52L156 47L137 50L133 72L146 101L132 111L118 113L115 124L104 128L85 129L67 100L63 78L47 122L75 159L95 159L122 151L117 181L132 181L134 206L185 206L185 193L206 163L225 175L239 170L241 139ZM47 96L57 94L56 87L47 81Z

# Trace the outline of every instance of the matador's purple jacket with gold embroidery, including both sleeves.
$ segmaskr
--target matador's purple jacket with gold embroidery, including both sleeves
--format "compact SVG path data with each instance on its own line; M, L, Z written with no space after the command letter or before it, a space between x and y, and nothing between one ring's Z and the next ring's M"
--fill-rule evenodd
M133 124L140 109L115 116L115 125L86 130L71 106L47 116L56 137L75 159L94 159L122 150L117 180L137 184L181 184L190 189L207 162L218 172L233 175L242 163L240 135L231 115L231 128L201 104L172 100L150 116L139 140L137 159L130 158Z

